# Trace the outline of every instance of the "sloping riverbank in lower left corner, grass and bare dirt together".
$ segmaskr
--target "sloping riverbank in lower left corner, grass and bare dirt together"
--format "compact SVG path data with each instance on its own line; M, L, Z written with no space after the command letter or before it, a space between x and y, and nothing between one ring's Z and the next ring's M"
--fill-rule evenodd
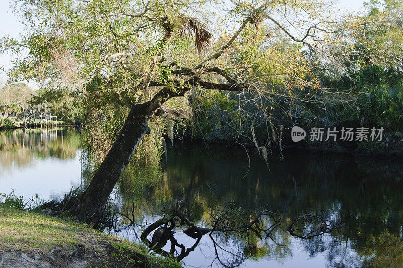
M180 267L84 224L0 208L0 267Z

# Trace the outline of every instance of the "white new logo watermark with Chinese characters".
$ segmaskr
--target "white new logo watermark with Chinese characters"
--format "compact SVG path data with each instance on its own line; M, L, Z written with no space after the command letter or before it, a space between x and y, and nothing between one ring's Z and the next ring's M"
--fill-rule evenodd
M337 138L343 141L381 141L383 128L345 128L337 130L337 128L311 128L310 141L336 141ZM303 128L294 126L291 129L291 139L294 142L304 140L306 131Z

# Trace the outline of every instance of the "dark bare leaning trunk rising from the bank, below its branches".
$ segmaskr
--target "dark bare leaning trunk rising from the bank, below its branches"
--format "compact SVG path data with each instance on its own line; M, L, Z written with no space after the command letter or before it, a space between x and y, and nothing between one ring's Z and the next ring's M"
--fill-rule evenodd
M120 174L148 131L148 120L151 116L148 108L149 103L132 105L115 142L75 208L81 221L91 224L98 222Z

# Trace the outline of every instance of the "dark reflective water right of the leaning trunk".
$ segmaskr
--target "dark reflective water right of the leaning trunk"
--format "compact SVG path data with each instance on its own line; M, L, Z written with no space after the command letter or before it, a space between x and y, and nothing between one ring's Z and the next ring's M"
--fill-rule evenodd
M264 162L254 159L244 176L248 160L237 150L189 147L168 154L160 184L146 199L132 203L137 197L122 194L122 211L133 212L136 222L149 225L178 201L190 204L184 214L205 227L213 225L212 208L266 209L281 214L281 226L272 234L274 241L254 235L215 234L223 247L219 254L225 265L243 258L241 265L248 267L403 264L402 163L298 152L286 154L285 161L272 161L271 172ZM287 228L304 214L343 222L346 228L308 240L292 237ZM175 227L174 237L189 248L195 240L181 233L183 230ZM130 230L124 236L135 239ZM170 251L169 241L163 249ZM227 251L241 257L234 259ZM194 266L223 264L217 260L214 242L206 236L183 261Z

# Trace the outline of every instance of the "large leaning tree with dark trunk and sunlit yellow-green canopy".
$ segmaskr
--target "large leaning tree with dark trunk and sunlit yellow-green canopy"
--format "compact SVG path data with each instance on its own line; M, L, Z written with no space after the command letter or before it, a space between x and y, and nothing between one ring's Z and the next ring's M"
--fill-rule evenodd
M337 42L330 7L321 0L15 0L27 30L1 44L27 55L16 59L11 80L34 79L88 109L129 108L72 209L96 223L150 118L170 99L195 88L292 96L317 86L298 49L282 54L270 44L320 51Z

